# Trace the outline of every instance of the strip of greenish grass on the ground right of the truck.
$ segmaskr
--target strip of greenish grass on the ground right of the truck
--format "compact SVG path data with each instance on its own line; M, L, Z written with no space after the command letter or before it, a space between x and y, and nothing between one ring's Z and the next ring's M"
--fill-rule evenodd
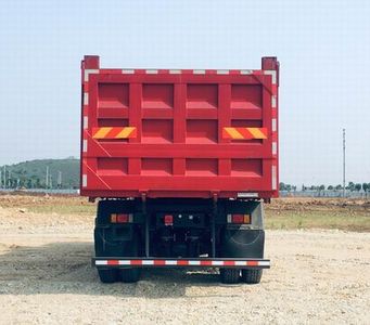
M370 213L337 211L267 211L266 229L339 229L370 232Z

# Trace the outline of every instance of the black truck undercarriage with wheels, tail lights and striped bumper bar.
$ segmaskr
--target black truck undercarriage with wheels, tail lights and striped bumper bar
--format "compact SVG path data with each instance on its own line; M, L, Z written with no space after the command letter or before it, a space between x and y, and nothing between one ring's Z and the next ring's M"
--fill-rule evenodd
M258 283L263 204L235 199L103 199L95 220L102 282L136 282L141 268L219 268L224 283Z

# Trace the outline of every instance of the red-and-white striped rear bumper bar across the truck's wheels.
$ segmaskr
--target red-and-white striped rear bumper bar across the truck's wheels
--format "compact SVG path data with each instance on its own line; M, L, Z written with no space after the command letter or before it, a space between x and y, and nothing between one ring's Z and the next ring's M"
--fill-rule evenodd
M107 268L230 268L230 269L270 269L270 260L239 258L199 258L199 259L163 259L163 258L93 258L92 265Z

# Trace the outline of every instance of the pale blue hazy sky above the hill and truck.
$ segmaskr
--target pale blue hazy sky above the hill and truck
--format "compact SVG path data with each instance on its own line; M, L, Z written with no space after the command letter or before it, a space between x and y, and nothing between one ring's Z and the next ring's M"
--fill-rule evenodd
M370 1L0 0L0 166L79 155L80 60L260 68L278 56L280 181L370 182Z

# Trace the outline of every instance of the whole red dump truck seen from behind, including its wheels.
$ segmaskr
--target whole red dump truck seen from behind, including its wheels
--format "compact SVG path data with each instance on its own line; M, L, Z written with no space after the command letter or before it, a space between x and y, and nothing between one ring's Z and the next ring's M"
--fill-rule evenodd
M217 268L259 283L263 202L278 196L279 62L261 69L101 68L81 62L80 193L99 198L100 280Z

